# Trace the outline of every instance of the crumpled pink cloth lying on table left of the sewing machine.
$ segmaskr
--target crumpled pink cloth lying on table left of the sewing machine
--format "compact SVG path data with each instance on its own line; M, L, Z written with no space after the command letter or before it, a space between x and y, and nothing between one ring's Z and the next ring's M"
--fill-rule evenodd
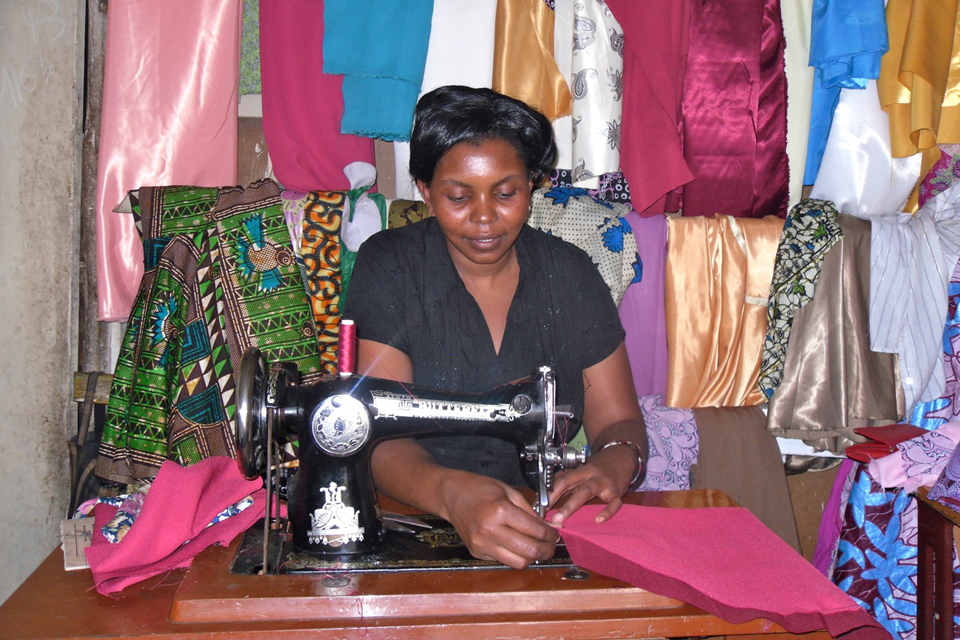
M206 458L186 468L164 462L140 515L117 544L110 544L100 533L116 508L102 504L94 508L96 528L85 553L97 591L114 593L187 567L210 545L228 544L263 517L266 492L262 487L260 480L244 479L233 458ZM252 506L207 527L217 514L251 494Z

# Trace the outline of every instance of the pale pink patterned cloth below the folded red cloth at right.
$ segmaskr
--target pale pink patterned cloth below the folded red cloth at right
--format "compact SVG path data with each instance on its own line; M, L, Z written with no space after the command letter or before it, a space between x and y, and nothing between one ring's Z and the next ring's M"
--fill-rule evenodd
M890 455L871 460L867 472L884 489L913 493L937 481L958 442L960 421L945 422L934 431L901 442Z

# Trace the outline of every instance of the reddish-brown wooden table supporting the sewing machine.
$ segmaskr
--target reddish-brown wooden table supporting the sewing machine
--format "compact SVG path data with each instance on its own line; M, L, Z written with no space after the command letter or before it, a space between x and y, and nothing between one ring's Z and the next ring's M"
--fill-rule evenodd
M629 501L733 504L718 491L631 494ZM562 568L359 573L346 582L239 576L227 570L237 542L114 596L98 594L88 571L65 572L57 549L0 607L0 638L797 637L763 619L730 624L603 576L566 580Z

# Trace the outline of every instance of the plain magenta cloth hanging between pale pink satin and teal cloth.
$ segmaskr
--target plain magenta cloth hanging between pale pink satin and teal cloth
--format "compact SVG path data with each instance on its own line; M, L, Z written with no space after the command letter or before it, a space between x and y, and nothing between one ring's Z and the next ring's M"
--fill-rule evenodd
M346 191L345 166L374 164L373 140L340 133L343 76L322 70L322 0L261 0L263 135L285 189Z

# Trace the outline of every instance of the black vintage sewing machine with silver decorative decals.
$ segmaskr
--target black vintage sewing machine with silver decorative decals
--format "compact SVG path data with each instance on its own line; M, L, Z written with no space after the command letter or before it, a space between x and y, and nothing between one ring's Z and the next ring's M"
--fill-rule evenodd
M266 475L269 490L278 466L272 444L298 442L299 469L287 488L293 544L318 556L368 553L383 544L370 454L388 438L459 434L513 442L543 515L556 471L586 460L584 451L558 441L557 420L572 415L555 405L554 376L541 367L482 394L350 373L299 384L293 365L268 369L260 351L250 349L237 377L238 464L247 478Z

